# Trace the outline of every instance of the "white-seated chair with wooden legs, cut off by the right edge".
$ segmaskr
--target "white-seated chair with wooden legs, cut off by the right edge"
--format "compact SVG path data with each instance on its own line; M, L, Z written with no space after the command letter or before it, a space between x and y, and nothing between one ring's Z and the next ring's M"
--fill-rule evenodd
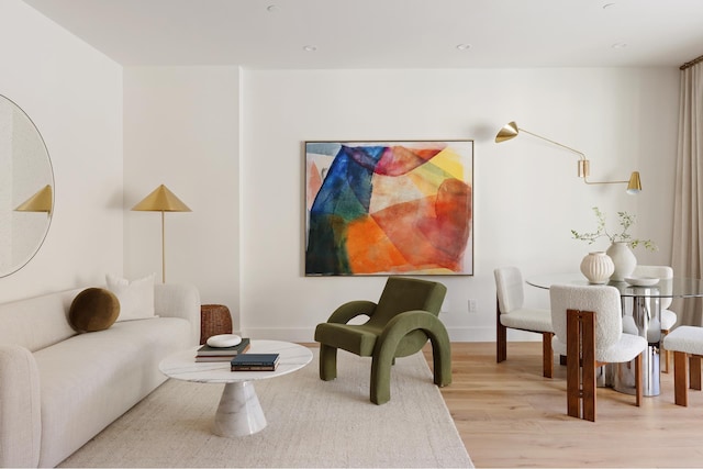
M673 400L688 406L689 388L701 390L703 327L679 326L667 334L663 346L673 351Z

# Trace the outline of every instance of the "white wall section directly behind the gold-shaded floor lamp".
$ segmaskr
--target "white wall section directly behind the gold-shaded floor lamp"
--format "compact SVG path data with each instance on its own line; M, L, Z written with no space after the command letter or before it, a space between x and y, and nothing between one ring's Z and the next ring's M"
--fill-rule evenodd
M198 286L238 328L238 67L126 67L124 170L125 276L161 280L160 213L130 209L164 183L192 210L166 213L166 281Z

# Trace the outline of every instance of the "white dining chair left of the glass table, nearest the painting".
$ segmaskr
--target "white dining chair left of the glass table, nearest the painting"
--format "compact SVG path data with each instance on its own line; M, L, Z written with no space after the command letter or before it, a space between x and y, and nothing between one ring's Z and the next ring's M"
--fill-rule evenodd
M551 353L551 313L546 309L525 308L523 275L517 267L499 267L495 277L495 361L507 358L507 330L520 330L542 334L542 368L545 378L554 373Z

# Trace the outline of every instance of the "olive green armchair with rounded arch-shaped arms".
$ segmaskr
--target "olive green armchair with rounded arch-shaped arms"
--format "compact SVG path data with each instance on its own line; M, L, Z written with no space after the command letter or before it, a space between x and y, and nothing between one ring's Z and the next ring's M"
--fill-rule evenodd
M337 377L337 349L371 359L371 402L384 404L391 394L391 366L397 357L416 354L432 343L434 382L451 383L451 346L437 317L447 288L438 282L389 277L377 303L350 301L337 308L326 323L317 324L320 379ZM347 324L367 315L364 324Z

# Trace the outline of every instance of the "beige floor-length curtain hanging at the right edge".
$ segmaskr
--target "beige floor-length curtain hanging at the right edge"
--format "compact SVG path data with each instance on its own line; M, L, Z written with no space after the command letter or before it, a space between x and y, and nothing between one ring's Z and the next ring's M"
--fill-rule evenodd
M677 277L703 278L703 62L681 66L679 144L671 265ZM677 300L678 324L703 326L703 299Z

